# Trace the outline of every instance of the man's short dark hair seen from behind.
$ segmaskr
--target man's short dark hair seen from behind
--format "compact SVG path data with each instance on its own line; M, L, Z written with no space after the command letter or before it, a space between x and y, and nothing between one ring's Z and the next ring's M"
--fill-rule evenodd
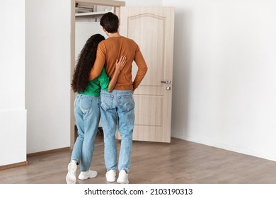
M108 33L117 33L119 18L114 13L105 13L102 18L100 18L100 25L103 26Z

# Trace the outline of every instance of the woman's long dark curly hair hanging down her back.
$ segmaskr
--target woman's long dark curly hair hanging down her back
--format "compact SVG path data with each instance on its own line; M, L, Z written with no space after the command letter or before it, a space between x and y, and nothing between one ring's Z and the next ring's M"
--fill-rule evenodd
M90 71L96 60L97 47L102 40L105 40L103 35L92 35L81 50L71 83L71 88L75 93L83 92L86 89Z

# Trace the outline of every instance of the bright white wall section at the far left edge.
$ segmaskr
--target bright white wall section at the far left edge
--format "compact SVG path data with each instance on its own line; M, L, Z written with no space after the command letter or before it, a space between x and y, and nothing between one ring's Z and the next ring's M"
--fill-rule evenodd
M25 2L2 0L0 18L1 166L26 161Z

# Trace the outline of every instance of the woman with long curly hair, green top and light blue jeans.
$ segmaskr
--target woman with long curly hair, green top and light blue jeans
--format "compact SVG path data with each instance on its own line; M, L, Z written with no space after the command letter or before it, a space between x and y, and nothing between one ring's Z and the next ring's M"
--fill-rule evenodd
M98 174L90 170L93 158L93 148L98 124L100 120L100 89L111 92L117 81L121 69L125 66L126 58L121 57L115 64L115 75L109 81L109 77L103 68L100 76L88 81L91 69L96 60L98 43L105 40L100 34L92 35L79 54L79 59L74 71L71 88L76 95L74 101L74 115L78 138L71 153L71 161L68 165L66 181L68 184L76 183L76 168L81 164L80 180L96 177Z

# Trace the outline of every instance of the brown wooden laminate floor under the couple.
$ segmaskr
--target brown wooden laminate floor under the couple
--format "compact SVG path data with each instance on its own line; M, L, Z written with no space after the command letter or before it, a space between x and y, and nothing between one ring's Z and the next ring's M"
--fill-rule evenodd
M70 156L71 151L62 151L30 157L28 166L0 170L0 183L66 183ZM77 183L106 183L103 141L96 142L91 169L98 176ZM134 141L129 180L132 184L275 184L276 162L180 139L171 144Z

